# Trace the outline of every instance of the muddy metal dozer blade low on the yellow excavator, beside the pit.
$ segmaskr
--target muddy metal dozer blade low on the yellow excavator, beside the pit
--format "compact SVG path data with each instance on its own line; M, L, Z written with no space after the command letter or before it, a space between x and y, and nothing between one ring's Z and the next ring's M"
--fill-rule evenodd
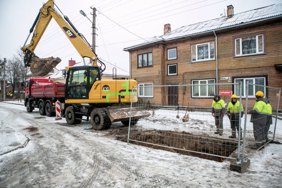
M132 107L131 119L147 118L150 115L151 113L146 110L146 107L144 105L139 105L139 106L134 105L134 107ZM130 105L109 106L108 116L112 123L118 121L129 121Z

